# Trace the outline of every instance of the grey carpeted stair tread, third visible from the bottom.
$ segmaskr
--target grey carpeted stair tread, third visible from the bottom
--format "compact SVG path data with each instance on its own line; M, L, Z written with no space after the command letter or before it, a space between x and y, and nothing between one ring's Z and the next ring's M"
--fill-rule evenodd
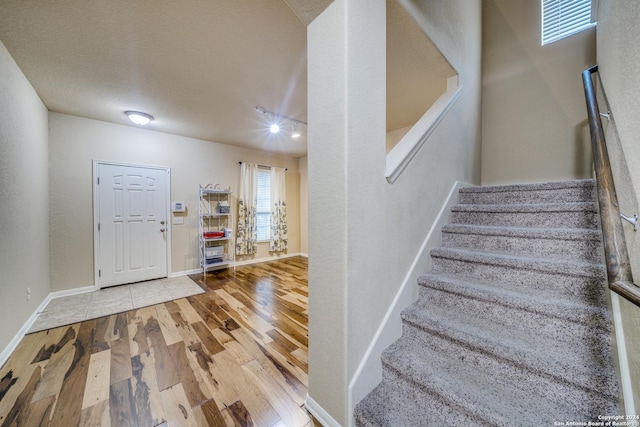
M537 375L607 396L617 396L617 393L605 390L602 386L607 384L608 377L601 370L608 368L609 362L596 353L600 349L572 348L563 343L541 340L535 330L523 334L490 321L465 318L460 314L454 316L455 313L438 310L437 307L427 311L415 305L402 312L405 325L419 328L430 335L446 338L461 347L491 355L496 360ZM583 357L584 353L588 357Z

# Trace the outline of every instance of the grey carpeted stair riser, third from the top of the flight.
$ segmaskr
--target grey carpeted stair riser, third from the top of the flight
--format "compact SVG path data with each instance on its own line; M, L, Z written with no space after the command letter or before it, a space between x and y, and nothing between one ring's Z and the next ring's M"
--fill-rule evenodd
M586 262L599 262L601 256L600 242L587 239L559 240L443 232L442 246Z

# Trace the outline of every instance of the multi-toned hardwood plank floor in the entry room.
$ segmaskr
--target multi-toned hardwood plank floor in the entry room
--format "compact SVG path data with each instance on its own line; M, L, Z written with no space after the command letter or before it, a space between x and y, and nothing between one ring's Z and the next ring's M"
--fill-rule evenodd
M27 335L4 426L306 426L307 260L194 277L201 295Z

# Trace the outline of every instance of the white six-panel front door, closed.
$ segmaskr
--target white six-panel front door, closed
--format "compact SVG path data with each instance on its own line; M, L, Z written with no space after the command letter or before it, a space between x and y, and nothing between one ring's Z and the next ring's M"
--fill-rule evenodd
M167 277L169 170L95 162L98 288Z

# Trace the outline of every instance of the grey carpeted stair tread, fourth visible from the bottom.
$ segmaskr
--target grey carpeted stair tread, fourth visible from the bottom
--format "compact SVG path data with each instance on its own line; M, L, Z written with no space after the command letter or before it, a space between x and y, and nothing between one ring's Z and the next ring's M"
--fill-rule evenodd
M496 289L490 284L478 280L473 282L457 276L425 273L418 277L420 297L424 289L446 292L453 298L463 297L486 303L508 306L524 312L535 313L554 319L584 325L608 331L611 318L606 307L577 303L564 299L549 298L548 295L523 292L519 290ZM424 295L428 298L428 295ZM420 304L420 300L418 301Z

